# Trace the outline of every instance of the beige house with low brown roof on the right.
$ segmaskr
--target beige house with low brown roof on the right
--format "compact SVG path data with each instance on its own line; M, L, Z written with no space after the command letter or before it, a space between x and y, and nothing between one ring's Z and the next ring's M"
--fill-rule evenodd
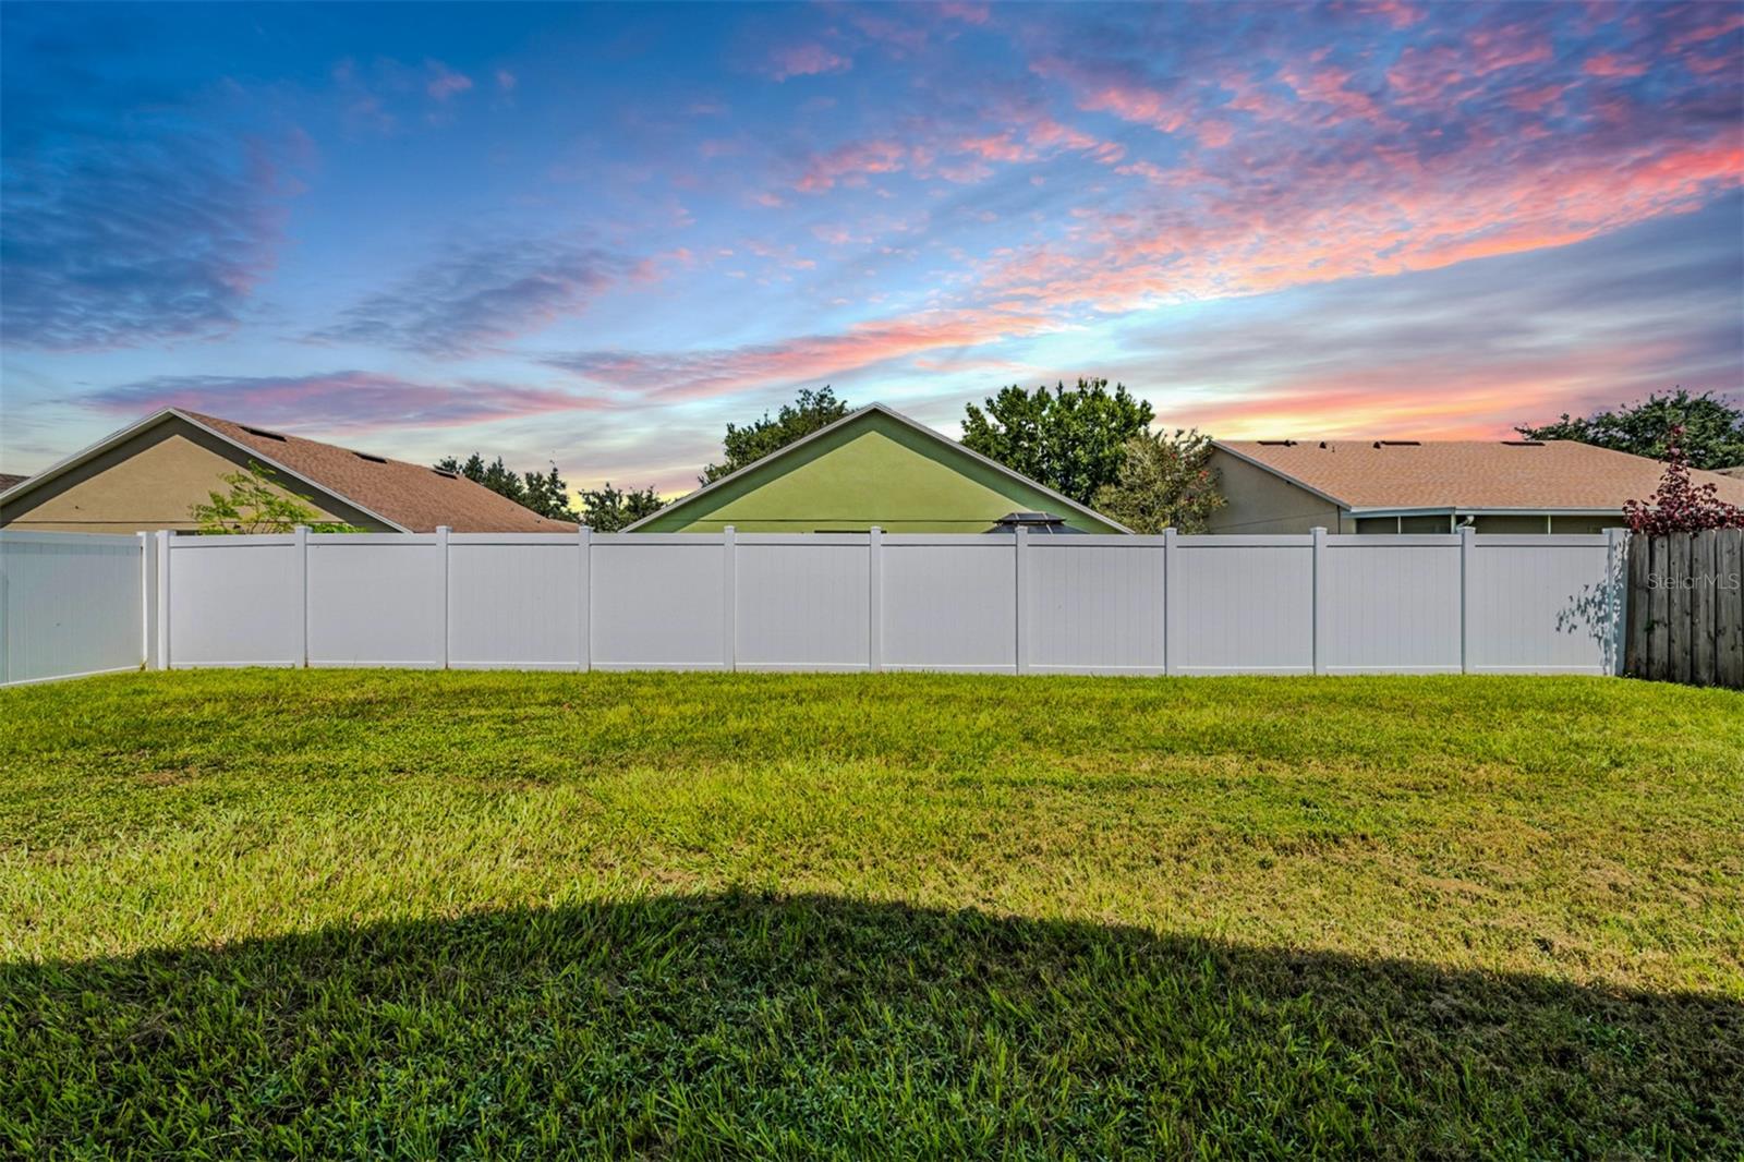
M1219 440L1210 462L1210 532L1598 532L1664 473L1570 440ZM1744 504L1744 480L1690 476Z

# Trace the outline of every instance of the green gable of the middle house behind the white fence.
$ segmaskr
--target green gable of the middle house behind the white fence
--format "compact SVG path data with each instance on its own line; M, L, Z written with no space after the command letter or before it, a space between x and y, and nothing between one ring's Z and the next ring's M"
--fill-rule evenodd
M1010 468L872 403L644 516L624 532L991 532L1013 513L1127 532Z

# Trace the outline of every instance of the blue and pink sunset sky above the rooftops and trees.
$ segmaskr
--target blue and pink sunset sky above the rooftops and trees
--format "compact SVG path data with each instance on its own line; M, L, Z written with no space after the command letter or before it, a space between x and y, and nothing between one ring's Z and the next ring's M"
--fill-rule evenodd
M162 405L682 492L800 386L1230 438L1744 386L1737 3L0 21L0 471Z

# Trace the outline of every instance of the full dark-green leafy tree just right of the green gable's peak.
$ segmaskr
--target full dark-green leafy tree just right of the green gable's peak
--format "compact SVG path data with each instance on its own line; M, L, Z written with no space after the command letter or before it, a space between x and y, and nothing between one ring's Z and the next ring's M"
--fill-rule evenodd
M1114 483L1127 441L1151 424L1151 405L1123 384L1109 391L1106 379L1032 393L1013 384L985 405L985 412L968 405L963 445L1080 504Z

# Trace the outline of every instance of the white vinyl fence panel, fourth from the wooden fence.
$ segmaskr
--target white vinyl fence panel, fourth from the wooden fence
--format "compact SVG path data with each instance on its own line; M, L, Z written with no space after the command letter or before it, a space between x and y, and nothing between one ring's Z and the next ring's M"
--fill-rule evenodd
M1036 673L1162 673L1163 537L1041 536L1024 550Z

